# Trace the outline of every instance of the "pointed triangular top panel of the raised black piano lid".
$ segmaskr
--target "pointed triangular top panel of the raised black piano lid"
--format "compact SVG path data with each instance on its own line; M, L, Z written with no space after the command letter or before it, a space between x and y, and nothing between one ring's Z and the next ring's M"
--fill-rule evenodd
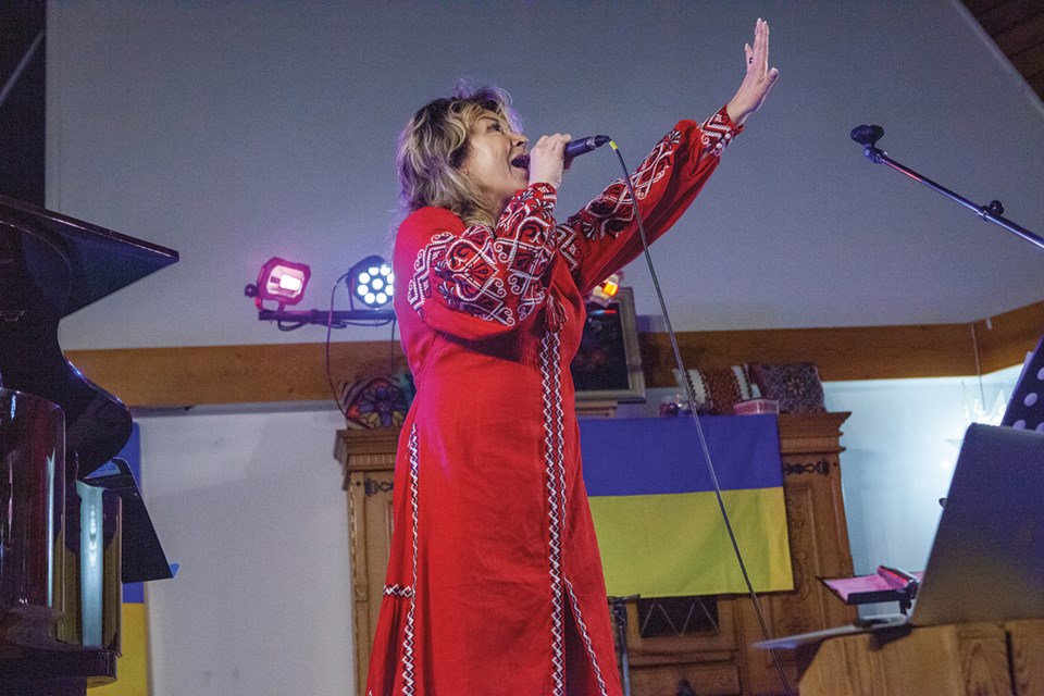
M69 260L72 287L62 316L177 262L177 252L0 196L0 222L39 237Z

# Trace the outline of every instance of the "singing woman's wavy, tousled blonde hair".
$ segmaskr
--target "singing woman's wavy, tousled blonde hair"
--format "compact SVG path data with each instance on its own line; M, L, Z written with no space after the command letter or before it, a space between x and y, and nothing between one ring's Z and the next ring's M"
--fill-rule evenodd
M492 111L521 130L511 109L511 97L499 87L472 90L460 82L451 97L436 99L413 114L399 134L396 165L399 200L407 214L437 206L456 213L465 224L496 223L499 210L489 210L460 165L468 154L468 137L475 119Z

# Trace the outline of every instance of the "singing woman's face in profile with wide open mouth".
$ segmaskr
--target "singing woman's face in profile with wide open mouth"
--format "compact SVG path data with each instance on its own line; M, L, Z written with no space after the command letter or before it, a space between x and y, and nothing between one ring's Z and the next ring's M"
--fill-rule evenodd
M492 111L481 112L471 124L468 153L460 171L497 214L515 191L530 183L527 142L524 135L514 133L507 121Z

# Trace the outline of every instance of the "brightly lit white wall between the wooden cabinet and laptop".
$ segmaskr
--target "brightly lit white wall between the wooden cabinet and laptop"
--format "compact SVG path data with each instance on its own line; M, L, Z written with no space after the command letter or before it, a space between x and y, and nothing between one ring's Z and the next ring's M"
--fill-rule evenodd
M965 430L984 394L1005 405L1020 368L979 380L873 380L824 385L842 427L845 514L857 573L879 564L924 570ZM994 410L999 420L1003 406ZM894 612L895 607L891 610Z

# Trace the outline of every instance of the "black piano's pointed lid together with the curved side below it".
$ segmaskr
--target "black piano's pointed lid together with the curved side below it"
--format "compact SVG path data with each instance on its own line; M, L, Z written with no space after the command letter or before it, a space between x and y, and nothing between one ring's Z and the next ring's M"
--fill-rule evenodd
M58 345L70 313L177 261L177 252L0 197L0 381L65 412L65 449L85 476L130 436L130 412Z

